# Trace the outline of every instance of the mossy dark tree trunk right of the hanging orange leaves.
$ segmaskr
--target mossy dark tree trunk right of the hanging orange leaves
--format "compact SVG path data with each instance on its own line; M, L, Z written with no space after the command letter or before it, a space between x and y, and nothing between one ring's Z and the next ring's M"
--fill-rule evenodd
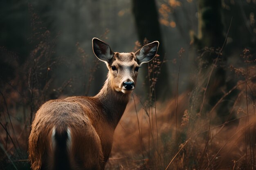
M222 15L222 1L221 0L198 0L198 36L194 37L194 43L201 53L202 73L211 75L207 88L203 91L203 101L198 106L199 113L207 113L218 100L223 96L223 93L229 91L234 85L233 80L227 79L225 66L227 66L227 55L223 55L222 47L225 46L225 31L224 30L223 15ZM202 52L203 51L203 52ZM221 53L220 53L221 52ZM212 70L212 64L218 60L217 66ZM199 62L199 61L198 61ZM224 67L223 67L224 66ZM211 71L213 71L211 73ZM208 78L204 79L205 84ZM231 107L234 105L234 100L237 96L237 91L230 93L221 104L218 105L216 112L222 123L228 119L233 119L235 114L231 114Z

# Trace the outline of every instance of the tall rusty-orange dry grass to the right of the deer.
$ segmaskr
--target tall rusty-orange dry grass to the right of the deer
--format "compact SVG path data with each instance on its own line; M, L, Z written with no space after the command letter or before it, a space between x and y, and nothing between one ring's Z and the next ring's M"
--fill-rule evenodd
M192 91L164 103L141 102L134 95L115 131L107 169L254 170L256 60L247 49L241 60L244 64L239 68L229 66L237 83L223 91L222 97L208 110L193 105L199 101L198 107L202 107L202 94L212 67L207 74L197 75L204 79L196 82ZM216 63L214 67L220 66ZM229 116L223 120L216 108L230 99L228 96L235 90L239 93L233 98ZM204 104L208 102L205 99Z

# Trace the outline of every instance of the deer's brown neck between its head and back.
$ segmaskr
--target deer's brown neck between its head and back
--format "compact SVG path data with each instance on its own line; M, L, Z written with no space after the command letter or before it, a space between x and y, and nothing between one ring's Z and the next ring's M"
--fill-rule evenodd
M106 111L106 116L109 121L112 121L113 127L116 128L121 119L127 103L130 99L130 94L115 91L111 86L110 75L101 88L101 91L95 96L99 99Z

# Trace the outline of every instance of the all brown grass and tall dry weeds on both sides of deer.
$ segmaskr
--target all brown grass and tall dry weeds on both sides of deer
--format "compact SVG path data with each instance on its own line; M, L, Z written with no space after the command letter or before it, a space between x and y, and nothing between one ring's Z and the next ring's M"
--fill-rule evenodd
M171 1L170 1L171 2ZM173 1L174 2L174 1ZM31 11L33 11L31 9ZM56 36L40 26L38 16L31 12L34 34L31 43L34 49L25 63L18 62L18 56L0 47L6 70L6 77L0 77L0 169L25 170L27 160L27 139L31 121L38 107L49 99L63 98L63 90L72 88L72 79L66 79L61 86L54 81L54 68L58 63L69 64L62 57L54 55ZM138 44L138 43L137 43ZM98 63L87 65L83 49L77 44L81 68L84 69L84 94L88 94L93 73ZM155 84L161 72L162 62L155 59L148 65L146 81L150 89L148 97L133 94L124 116L115 130L109 170L255 170L256 168L256 68L255 54L248 49L241 51L240 64L225 65L221 60L210 63L202 71L204 53L213 51L225 55L219 49L204 48L195 62L199 68L190 73L193 88L179 94L179 75L175 75L175 96L164 102L155 101ZM175 64L182 65L182 54ZM177 61L177 63L176 63ZM164 62L168 62L167 60ZM222 67L227 79L236 84L231 88L217 87L221 97L209 106L204 95L214 94L207 84L211 70ZM141 76L141 75L139 75ZM214 87L216 89L216 87ZM238 91L235 97L229 97ZM144 101L144 98L147 98ZM232 101L234 105L224 106ZM198 107L199 106L199 107ZM221 107L220 107L221 106ZM206 107L207 109L204 109ZM218 110L229 109L224 117ZM198 109L199 108L199 109ZM202 109L200 109L202 108Z

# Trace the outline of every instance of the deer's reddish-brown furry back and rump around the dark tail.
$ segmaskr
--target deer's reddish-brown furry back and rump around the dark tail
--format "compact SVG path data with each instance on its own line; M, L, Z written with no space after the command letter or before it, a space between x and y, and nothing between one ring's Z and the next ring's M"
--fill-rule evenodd
M103 119L100 116L103 110L98 106L92 97L68 97L43 104L36 113L29 136L32 168L54 169L54 147L58 144L54 134L63 132L67 134L65 147L71 169L99 169L103 166L103 157L110 152L112 140L101 144L102 128L106 125L104 121L97 121ZM110 149L106 149L109 145Z

